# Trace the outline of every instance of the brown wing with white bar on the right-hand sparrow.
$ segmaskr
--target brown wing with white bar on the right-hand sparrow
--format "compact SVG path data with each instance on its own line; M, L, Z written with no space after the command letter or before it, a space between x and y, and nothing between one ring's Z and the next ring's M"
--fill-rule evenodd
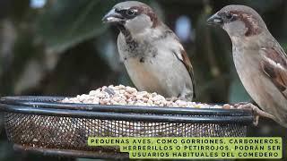
M263 55L261 62L263 71L287 99L287 55L278 46L262 48L260 53Z

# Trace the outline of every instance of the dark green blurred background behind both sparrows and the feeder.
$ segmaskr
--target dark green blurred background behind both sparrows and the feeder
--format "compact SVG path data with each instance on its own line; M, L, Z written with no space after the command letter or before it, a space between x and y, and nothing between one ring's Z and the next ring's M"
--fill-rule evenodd
M0 0L0 97L75 96L109 84L133 86L119 62L114 27L101 17L119 0ZM246 4L260 13L287 49L287 1L149 0L189 55L196 75L196 101L252 101L234 69L227 34L208 27L209 15L227 4ZM87 160L14 152L0 122L0 160ZM248 136L280 136L286 129L261 119ZM284 144L286 147L286 144ZM286 153L284 152L286 157Z

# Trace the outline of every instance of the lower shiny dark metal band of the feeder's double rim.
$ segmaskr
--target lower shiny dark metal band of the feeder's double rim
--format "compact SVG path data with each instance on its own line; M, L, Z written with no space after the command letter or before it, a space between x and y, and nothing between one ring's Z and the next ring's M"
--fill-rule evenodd
M240 123L250 124L253 116L186 116L186 115L160 115L160 114L121 114L107 112L91 112L82 110L41 108L31 106L11 106L0 104L0 109L8 113L38 114L48 116L91 118L100 120L136 121L154 123Z

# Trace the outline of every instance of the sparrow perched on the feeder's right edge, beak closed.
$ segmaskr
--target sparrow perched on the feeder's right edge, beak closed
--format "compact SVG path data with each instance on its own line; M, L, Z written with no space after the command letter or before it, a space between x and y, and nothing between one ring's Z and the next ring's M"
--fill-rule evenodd
M221 26L230 36L239 78L265 112L252 108L287 127L287 55L265 21L248 6L228 5L207 22Z

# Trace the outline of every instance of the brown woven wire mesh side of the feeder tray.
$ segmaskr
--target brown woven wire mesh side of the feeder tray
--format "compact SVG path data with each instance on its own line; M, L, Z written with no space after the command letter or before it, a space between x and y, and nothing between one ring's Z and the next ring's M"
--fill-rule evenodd
M13 143L39 148L92 150L88 137L243 137L246 126L216 123L144 123L5 113Z

